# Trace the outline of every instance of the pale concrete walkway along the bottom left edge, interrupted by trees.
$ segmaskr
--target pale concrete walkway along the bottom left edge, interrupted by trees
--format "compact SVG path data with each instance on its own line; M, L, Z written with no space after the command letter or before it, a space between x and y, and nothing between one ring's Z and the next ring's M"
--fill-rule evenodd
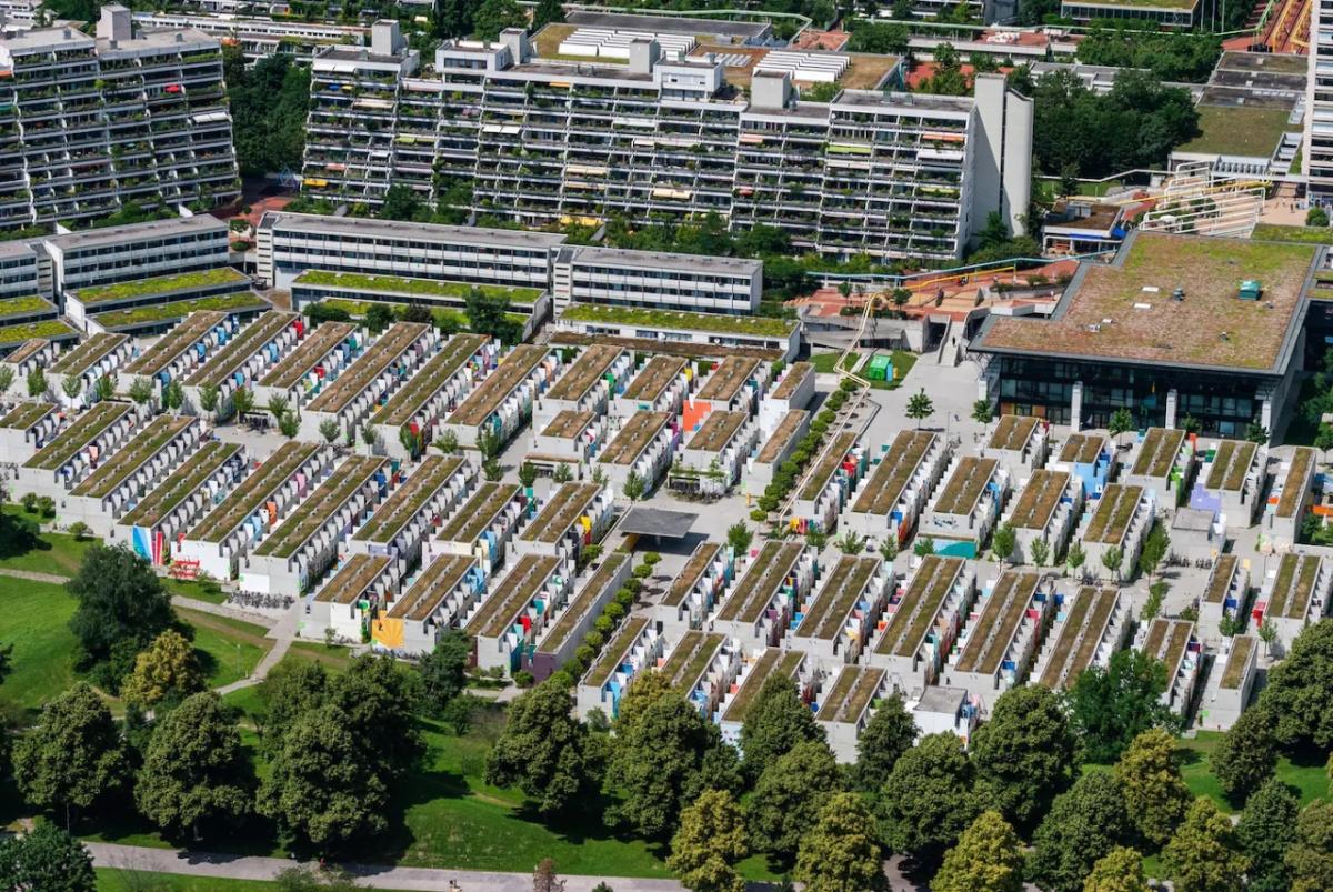
M272 880L279 871L296 861L279 857L215 855L208 852L177 852L175 849L88 843L93 864L97 867L141 871L144 873L183 873L185 876L216 876L232 880ZM531 873L491 873L483 871L452 871L421 867L384 867L375 864L340 864L357 881L371 889L400 889L440 892L457 883L463 892L531 892ZM559 865L556 865L559 869ZM592 892L605 880L616 892L680 892L684 887L674 880L643 880L600 876L564 876L565 892Z

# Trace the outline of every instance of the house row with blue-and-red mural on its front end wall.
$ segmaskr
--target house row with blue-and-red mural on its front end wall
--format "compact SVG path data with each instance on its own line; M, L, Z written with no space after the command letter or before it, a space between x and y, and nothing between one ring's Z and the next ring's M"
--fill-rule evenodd
M172 556L172 543L189 529L215 499L223 499L245 469L239 443L211 440L116 519L108 541L125 543L153 565Z

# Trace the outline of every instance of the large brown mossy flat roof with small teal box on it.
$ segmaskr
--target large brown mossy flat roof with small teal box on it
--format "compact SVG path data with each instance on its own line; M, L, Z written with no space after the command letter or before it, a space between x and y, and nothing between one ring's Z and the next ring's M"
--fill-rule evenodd
M1052 319L992 315L976 349L1281 372L1322 253L1317 245L1134 231L1112 265L1080 264ZM1238 297L1244 280L1261 284L1257 301ZM1182 301L1172 300L1176 288L1185 289Z

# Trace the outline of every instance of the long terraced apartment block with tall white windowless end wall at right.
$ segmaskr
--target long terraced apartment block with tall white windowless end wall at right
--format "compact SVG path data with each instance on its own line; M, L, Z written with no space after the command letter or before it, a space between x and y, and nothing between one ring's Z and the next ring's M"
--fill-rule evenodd
M1029 197L1032 103L1001 76L970 97L841 91L800 101L789 73L750 96L724 60L628 65L532 57L528 35L447 41L435 72L396 49L328 48L312 64L304 184L379 204L389 183L524 225L633 224L720 215L734 231L784 228L833 256L961 255L992 211L1014 232Z

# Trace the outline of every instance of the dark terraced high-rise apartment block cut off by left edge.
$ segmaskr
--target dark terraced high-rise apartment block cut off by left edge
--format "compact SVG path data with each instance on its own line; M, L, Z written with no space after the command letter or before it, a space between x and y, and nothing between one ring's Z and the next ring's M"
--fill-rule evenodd
M135 35L129 11L107 5L96 37L35 28L0 40L0 227L239 195L216 39Z

